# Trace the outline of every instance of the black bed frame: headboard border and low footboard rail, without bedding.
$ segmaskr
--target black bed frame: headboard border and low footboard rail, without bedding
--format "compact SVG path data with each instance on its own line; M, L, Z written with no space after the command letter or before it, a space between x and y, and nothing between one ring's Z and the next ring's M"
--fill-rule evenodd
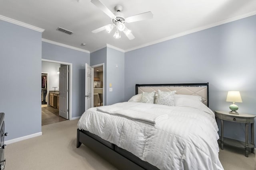
M207 86L207 93L209 93L208 83L136 84L136 94L138 94L138 87L140 86ZM207 95L207 100L209 104L208 96L209 95ZM82 143L120 170L159 170L156 166L141 160L131 152L128 152L88 131L77 129L76 147L79 148Z

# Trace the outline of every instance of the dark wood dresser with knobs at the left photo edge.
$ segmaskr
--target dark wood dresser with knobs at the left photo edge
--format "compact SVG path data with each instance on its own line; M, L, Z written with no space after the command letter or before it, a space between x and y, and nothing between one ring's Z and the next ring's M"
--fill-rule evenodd
M0 113L0 127L0 170L3 170L5 166L4 149L6 149L6 145L4 145L4 137L8 135L8 133L4 133L4 113Z

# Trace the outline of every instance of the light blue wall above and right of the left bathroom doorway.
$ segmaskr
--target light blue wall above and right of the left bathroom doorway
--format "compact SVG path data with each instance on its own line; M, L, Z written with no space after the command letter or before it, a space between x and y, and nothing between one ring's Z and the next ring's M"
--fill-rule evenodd
M90 54L42 42L42 59L72 63L72 117L81 116L85 110L85 63L90 63Z

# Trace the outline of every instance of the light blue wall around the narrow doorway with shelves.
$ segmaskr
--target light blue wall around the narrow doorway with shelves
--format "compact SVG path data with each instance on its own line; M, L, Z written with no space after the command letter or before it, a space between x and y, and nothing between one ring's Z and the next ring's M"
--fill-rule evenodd
M97 65L104 63L104 92L106 94L106 80L107 80L107 47L90 53L90 65ZM104 95L104 105L107 105L107 95Z

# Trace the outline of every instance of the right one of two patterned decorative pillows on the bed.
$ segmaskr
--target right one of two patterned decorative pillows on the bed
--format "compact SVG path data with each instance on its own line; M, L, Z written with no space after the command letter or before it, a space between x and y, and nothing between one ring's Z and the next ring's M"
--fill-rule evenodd
M176 91L163 92L158 90L158 103L167 106L174 106L174 94Z

